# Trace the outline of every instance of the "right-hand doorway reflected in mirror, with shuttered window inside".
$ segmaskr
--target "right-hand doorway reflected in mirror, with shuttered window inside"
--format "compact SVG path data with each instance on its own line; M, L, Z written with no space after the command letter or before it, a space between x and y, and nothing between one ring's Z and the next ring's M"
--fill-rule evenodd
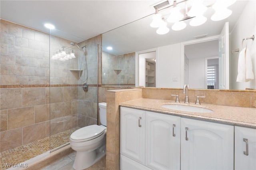
M218 39L184 46L184 82L195 89L218 87Z

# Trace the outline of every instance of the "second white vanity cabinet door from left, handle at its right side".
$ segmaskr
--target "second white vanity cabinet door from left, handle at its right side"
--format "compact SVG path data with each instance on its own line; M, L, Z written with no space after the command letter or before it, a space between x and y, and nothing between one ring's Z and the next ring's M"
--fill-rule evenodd
M180 117L146 111L146 166L180 169Z

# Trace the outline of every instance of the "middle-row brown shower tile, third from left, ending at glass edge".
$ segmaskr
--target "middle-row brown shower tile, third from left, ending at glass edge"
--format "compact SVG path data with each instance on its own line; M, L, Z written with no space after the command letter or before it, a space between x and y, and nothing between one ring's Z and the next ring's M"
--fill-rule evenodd
M35 106L35 123L45 122L50 120L50 105Z

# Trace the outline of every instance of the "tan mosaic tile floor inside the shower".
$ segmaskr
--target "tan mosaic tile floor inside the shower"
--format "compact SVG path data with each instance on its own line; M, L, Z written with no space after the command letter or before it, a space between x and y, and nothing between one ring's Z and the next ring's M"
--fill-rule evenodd
M70 135L79 129L79 127L54 134L50 137L46 137L16 148L0 152L0 162L2 164L18 164L26 160L34 158L40 154L43 154L51 149L57 148L69 142ZM51 147L50 147L51 141ZM0 170L8 169L9 167L2 167Z

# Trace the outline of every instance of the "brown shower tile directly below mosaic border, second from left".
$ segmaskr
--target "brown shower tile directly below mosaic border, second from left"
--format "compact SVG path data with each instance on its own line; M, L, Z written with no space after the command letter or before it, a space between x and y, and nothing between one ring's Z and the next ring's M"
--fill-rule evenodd
M22 107L45 104L45 88L23 88Z

